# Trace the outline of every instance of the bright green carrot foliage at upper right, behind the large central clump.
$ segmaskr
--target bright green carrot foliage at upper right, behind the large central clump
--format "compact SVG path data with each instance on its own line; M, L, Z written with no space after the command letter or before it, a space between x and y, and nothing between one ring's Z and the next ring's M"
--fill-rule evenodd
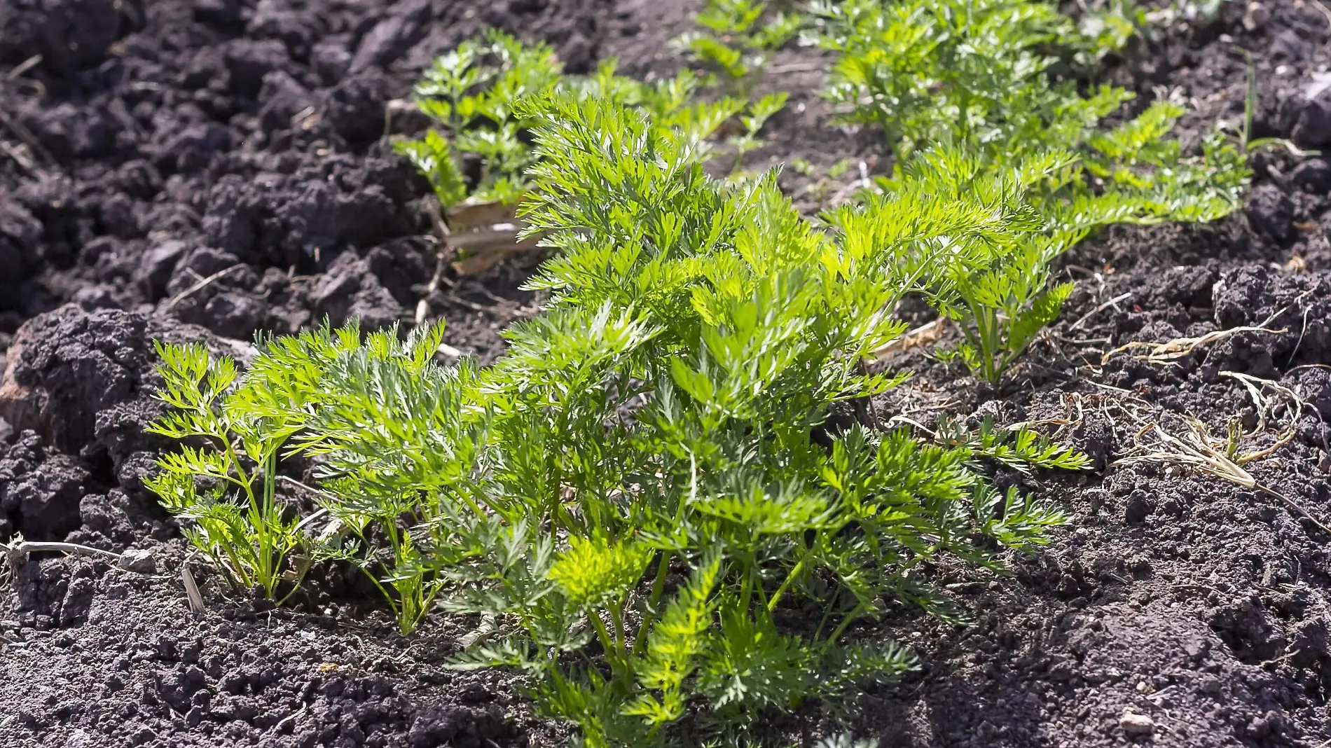
M945 161L949 194L985 184L1028 208L1021 232L948 253L921 278L962 330L956 355L984 379L997 382L1057 318L1071 286L1051 283L1050 264L1090 233L1213 221L1240 205L1248 170L1219 130L1187 154L1170 137L1183 114L1170 101L1103 126L1133 94L1082 93L1071 75L1126 43L1141 20L1129 3L1081 25L1046 0L848 0L813 13L839 53L827 96L896 150L898 174L880 190Z

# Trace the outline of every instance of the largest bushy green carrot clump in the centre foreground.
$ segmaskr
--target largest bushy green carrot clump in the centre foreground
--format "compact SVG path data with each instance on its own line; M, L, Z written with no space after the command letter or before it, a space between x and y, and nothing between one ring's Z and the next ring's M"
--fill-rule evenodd
M442 325L323 327L261 341L234 387L209 391L252 393L274 454L315 462L357 542L345 558L405 631L431 604L491 616L454 665L526 671L587 745L658 744L693 711L744 724L901 673L909 651L855 626L893 599L949 615L921 563L997 564L1065 522L980 463L1082 462L1020 434L933 442L829 413L902 379L862 361L901 334L890 310L926 269L1029 209L921 166L815 225L775 174L707 176L709 128L671 117L716 109L658 114L604 93L614 77L596 85L514 112L534 133L522 214L556 253L530 283L550 310L506 331L494 365L438 365Z

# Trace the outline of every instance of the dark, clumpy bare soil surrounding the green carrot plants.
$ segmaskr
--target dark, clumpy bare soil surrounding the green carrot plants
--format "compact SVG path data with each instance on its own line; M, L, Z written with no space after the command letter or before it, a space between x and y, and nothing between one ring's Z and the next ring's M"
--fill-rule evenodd
M346 574L270 610L194 566L141 479L164 445L142 433L153 339L245 358L256 330L323 315L413 318L434 272L427 186L386 136L390 104L433 55L499 25L546 39L571 71L619 56L669 75L664 41L695 3L646 0L0 0L0 540L124 551L130 568L33 556L0 591L0 745L552 745L511 676L439 667L466 620L401 638ZM1226 3L1113 61L1143 98L1197 109L1197 133L1243 113L1254 137L1331 146L1328 15L1316 0ZM876 168L872 133L825 126L817 53L791 49L767 85L792 91L769 161ZM1316 85L1314 85L1316 84ZM755 162L760 164L761 158ZM877 630L921 669L836 708L768 727L792 741L853 728L902 747L1304 747L1331 740L1331 164L1255 157L1247 209L1214 226L1115 229L1063 272L1078 291L997 391L921 355L880 403L1036 422L1095 458L1022 478L1071 523L1012 574L929 570L973 623L901 610ZM852 176L848 176L849 180ZM841 185L793 173L804 202ZM538 258L447 276L426 298L449 342L480 358L530 314ZM1129 294L1129 295L1125 295ZM1243 331L1154 365L1125 343ZM1304 402L1291 441L1247 465L1282 498L1162 465L1114 465L1146 423L1182 414L1223 434L1258 411L1226 371ZM1270 390L1267 390L1270 394ZM1290 422L1288 410L1272 414ZM1282 421L1283 419L1283 421ZM1271 443L1252 442L1258 447ZM1298 507L1298 508L1296 508ZM833 717L832 715L836 715Z

